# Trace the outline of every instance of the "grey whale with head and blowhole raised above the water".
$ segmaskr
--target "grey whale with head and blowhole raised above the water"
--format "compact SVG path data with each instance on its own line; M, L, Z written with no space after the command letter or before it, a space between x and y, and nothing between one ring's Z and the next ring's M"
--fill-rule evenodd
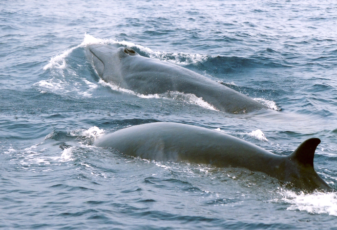
M169 62L139 55L130 47L88 45L86 56L105 82L136 93L190 93L215 109L243 114L267 106L199 73Z

